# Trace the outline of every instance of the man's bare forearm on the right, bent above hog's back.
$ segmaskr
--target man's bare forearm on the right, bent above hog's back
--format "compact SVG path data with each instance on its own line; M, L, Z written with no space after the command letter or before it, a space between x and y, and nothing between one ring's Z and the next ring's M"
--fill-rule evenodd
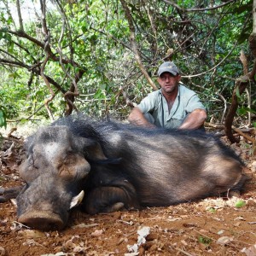
M204 109L197 108L183 120L178 129L198 129L207 119L207 112Z

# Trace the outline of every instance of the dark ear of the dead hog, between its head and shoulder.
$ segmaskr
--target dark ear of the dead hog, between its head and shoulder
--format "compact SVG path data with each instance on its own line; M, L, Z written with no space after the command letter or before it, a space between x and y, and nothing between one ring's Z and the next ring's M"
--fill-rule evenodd
M83 153L88 160L108 160L106 155L103 153L102 146L100 143L89 138L80 138L80 143L82 143Z

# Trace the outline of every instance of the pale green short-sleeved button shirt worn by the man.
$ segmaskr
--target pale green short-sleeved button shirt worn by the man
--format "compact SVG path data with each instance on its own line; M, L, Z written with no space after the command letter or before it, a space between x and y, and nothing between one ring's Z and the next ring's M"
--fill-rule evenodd
M150 113L154 118L154 125L165 128L179 127L185 117L196 108L206 110L195 91L189 90L182 84L178 85L177 97L170 113L161 89L149 93L137 108L143 114Z

